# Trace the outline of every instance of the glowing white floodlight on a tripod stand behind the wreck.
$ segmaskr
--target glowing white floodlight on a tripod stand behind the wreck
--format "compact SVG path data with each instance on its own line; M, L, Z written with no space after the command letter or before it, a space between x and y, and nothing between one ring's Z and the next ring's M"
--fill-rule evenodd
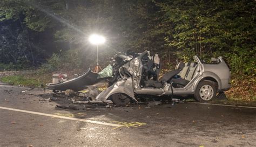
M99 66L99 52L98 52L98 45L100 44L104 44L106 39L103 37L103 36L100 36L98 34L92 34L90 37L89 37L89 41L91 44L93 45L97 45L97 65L94 69L93 72L96 72L98 73L99 71L102 70L102 68Z

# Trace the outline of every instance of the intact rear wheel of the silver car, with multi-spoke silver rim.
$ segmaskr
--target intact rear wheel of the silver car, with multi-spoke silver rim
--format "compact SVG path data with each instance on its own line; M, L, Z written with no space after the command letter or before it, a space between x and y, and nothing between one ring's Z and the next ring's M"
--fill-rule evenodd
M216 98L216 86L215 82L205 80L199 82L194 98L199 102L208 102Z

